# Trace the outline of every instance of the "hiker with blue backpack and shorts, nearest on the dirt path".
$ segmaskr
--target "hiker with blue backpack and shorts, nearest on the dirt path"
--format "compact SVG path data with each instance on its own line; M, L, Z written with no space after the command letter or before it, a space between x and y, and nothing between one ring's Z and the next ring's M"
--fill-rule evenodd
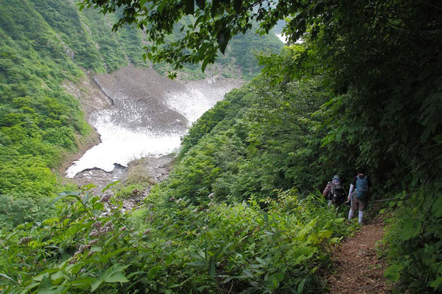
M362 219L364 219L364 210L366 209L367 202L369 200L369 188L371 188L371 181L369 177L365 175L363 168L359 167L357 172L357 176L355 176L351 182L349 196L347 197L349 201L351 201L349 220L353 219L354 212L357 210L359 211L358 223L362 224Z

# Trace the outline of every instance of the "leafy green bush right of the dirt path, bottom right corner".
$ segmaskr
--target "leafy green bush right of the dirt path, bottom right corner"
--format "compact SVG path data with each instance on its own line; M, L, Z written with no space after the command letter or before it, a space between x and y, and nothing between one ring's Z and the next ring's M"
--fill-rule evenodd
M442 289L442 196L441 183L434 183L405 199L405 193L390 203L397 207L388 221L384 243L391 265L386 278L396 282L396 293L437 292Z

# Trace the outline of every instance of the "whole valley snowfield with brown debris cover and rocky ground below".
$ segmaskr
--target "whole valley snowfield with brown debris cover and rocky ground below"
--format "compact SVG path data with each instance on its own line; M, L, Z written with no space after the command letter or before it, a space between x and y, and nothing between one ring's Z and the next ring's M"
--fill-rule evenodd
M112 74L90 76L82 85L65 85L83 104L88 122L100 135L66 170L78 185L125 180L128 165L143 159L153 182L162 181L192 122L242 84L212 76L205 80L165 78L151 68L128 66Z

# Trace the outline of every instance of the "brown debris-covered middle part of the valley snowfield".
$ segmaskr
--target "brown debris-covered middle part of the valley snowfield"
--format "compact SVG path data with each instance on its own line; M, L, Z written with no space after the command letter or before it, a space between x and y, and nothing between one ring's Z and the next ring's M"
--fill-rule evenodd
M185 91L180 82L158 75L151 68L133 66L112 75L97 75L95 80L115 103L109 119L118 125L155 133L186 130L186 117L165 103L166 93Z

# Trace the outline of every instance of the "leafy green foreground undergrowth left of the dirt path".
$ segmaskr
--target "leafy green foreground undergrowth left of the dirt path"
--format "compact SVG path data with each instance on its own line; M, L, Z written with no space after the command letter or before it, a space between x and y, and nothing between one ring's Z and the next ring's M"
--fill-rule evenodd
M64 197L76 201L57 217L2 231L4 293L316 293L324 245L348 230L321 198L292 192L235 205L151 199L135 216L87 190Z

